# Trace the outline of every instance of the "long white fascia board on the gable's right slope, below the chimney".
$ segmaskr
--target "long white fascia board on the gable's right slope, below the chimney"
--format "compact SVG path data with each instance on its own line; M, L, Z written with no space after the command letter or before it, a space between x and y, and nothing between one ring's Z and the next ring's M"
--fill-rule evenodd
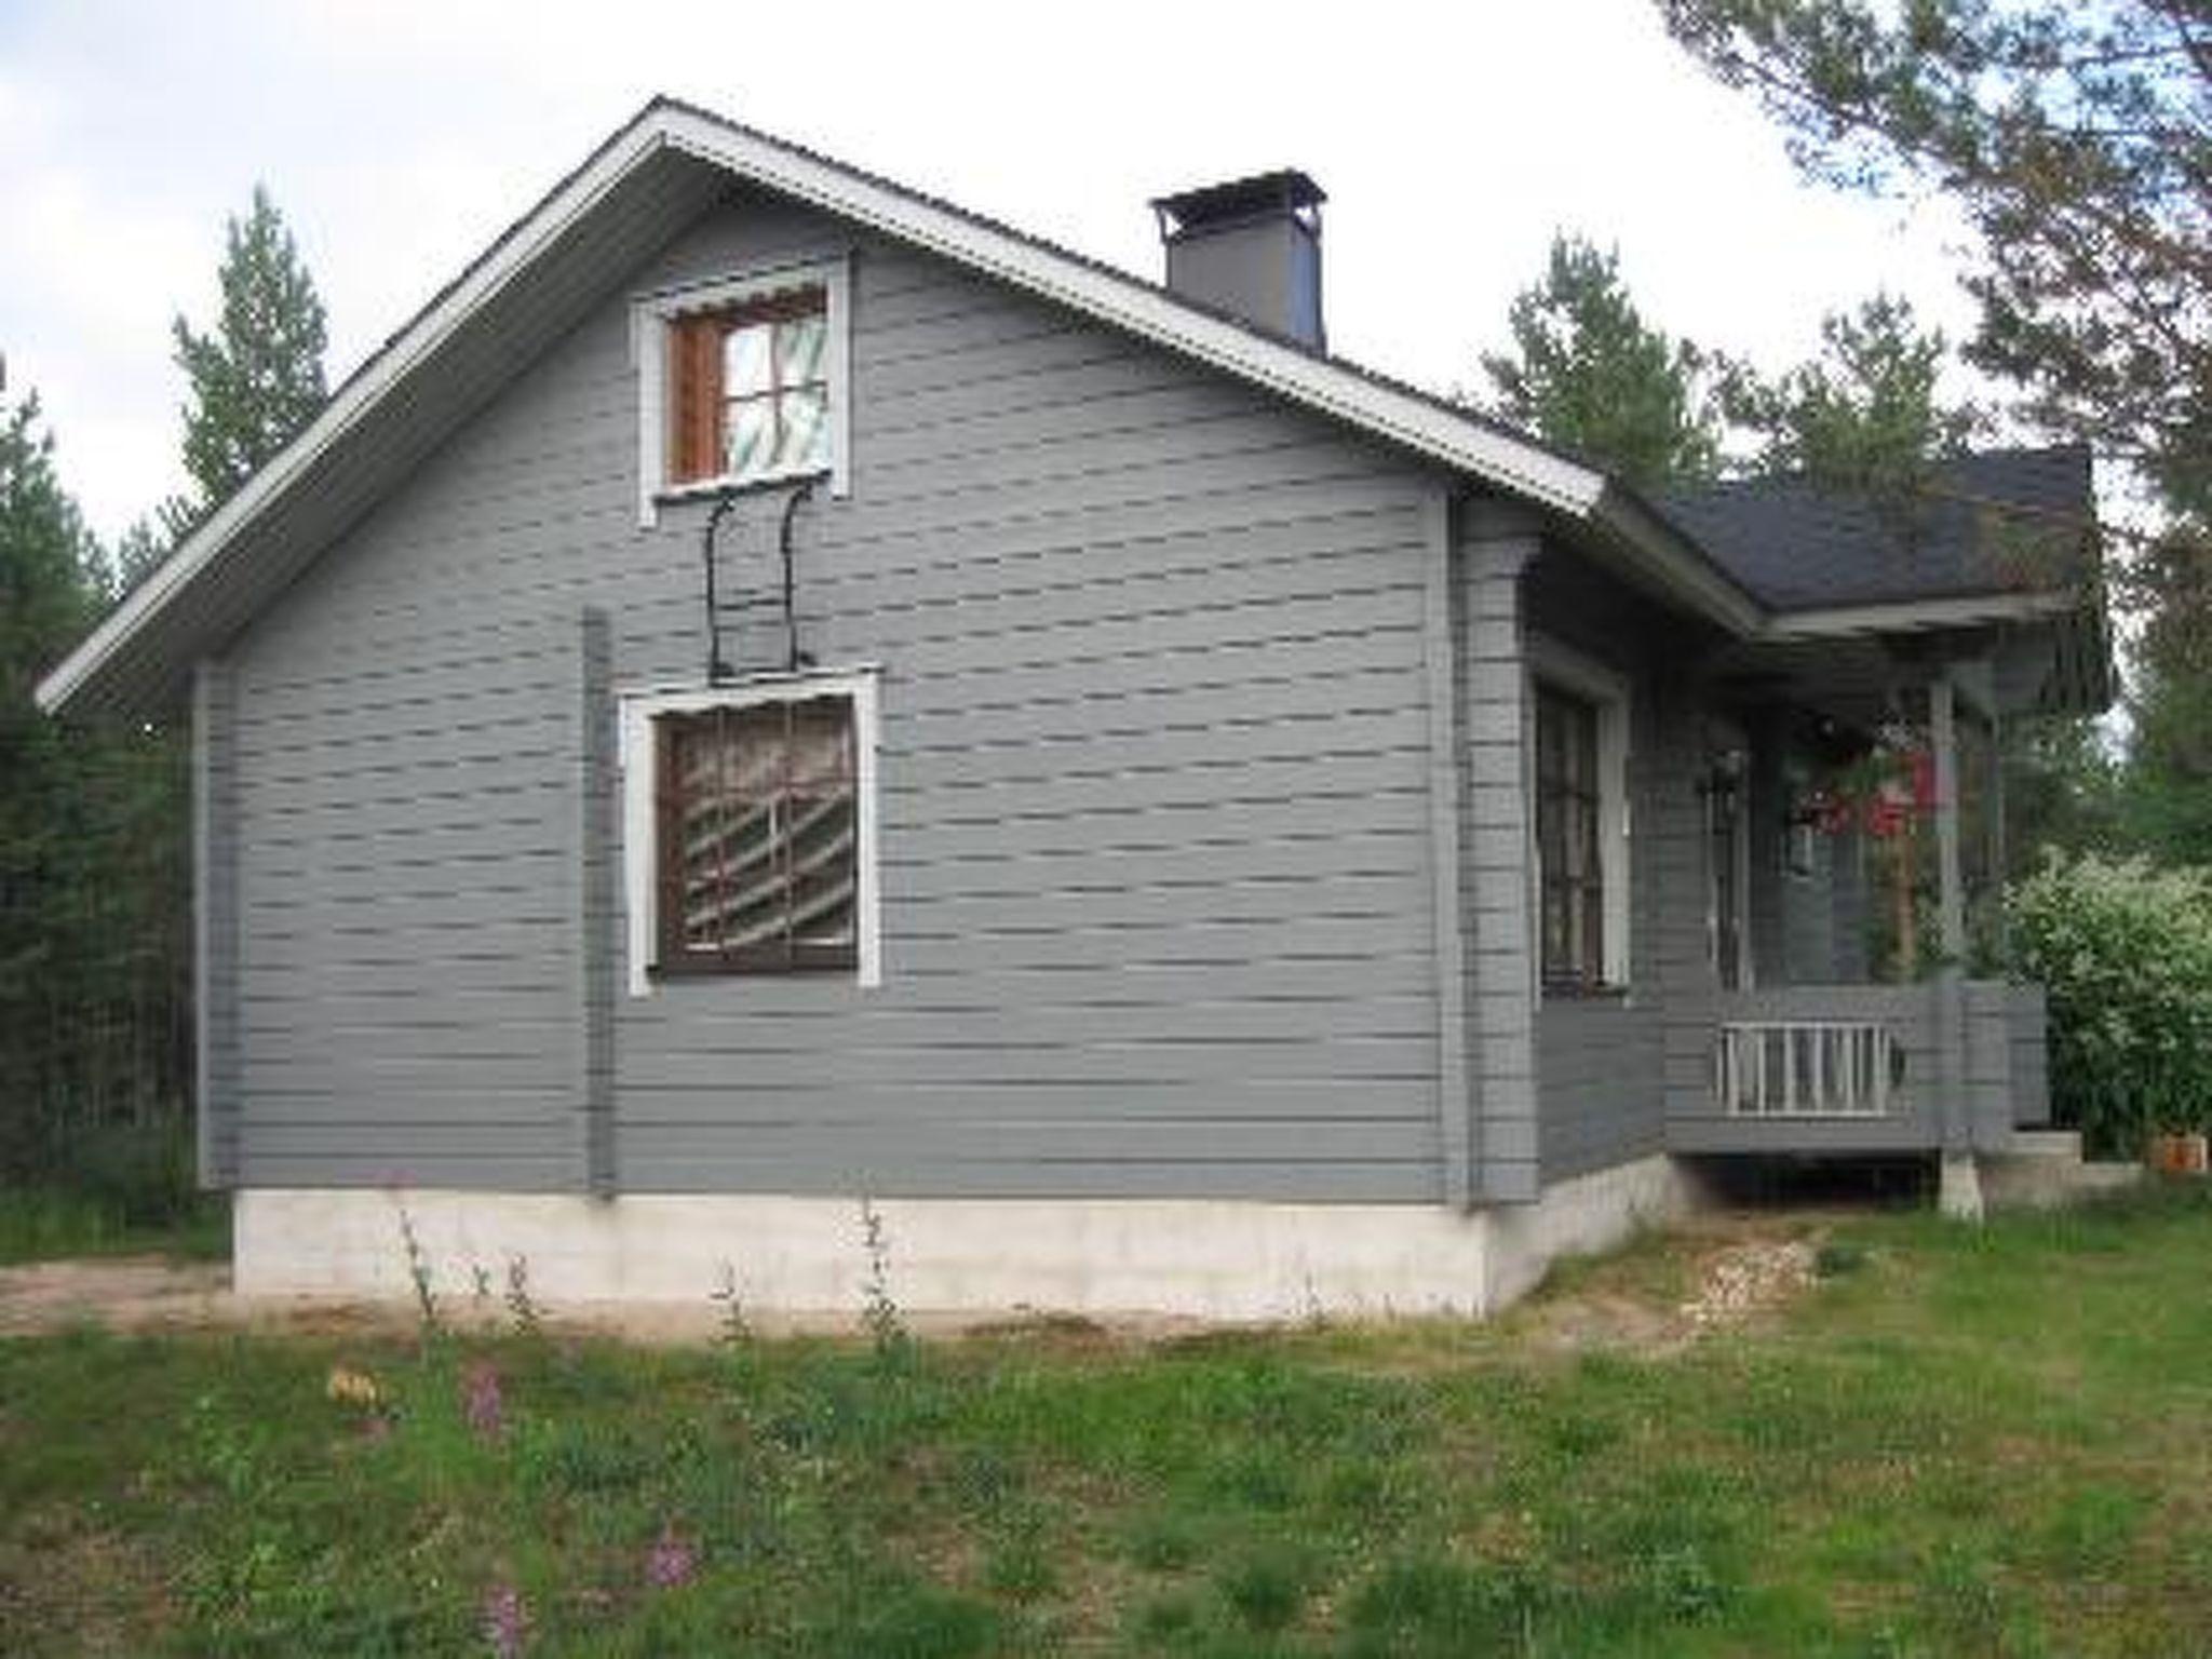
M794 153L697 111L668 111L666 131L675 148L714 161L739 177L942 254L987 276L998 276L1086 316L1128 327L1555 511L1584 518L1604 491L1604 473L1590 467L1579 467L1537 445L1453 416L1427 398L1396 392L1290 345L1279 345L1128 276L975 223L933 201L860 179L821 157Z

